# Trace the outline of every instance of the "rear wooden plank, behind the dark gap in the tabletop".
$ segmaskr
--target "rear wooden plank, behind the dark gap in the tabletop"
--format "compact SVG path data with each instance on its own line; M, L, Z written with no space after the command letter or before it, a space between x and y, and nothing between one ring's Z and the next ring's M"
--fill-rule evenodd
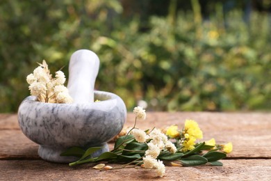
M0 114L0 158L37 157L38 145L22 134L15 114ZM183 126L191 118L199 123L204 140L214 137L217 143L232 141L231 157L270 158L271 113L147 113L147 120L138 120L138 127L163 128ZM128 114L125 127L133 126L134 115ZM15 149L16 148L16 149ZM32 150L29 150L32 149Z

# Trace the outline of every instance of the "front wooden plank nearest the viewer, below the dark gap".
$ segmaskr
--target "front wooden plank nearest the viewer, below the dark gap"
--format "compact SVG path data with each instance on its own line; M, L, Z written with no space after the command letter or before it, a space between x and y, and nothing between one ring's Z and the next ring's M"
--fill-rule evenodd
M266 159L223 160L224 166L166 166L160 180L270 180L271 162ZM125 168L111 171L91 169L95 164L69 167L42 160L0 160L3 180L156 180L154 170ZM110 164L110 166L119 166Z

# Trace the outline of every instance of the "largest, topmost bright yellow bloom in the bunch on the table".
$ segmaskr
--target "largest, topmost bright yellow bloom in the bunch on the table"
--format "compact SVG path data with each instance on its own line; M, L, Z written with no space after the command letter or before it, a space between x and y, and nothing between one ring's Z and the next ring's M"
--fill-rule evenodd
M184 124L184 132L190 136L194 136L195 139L202 139L202 130L195 120L186 120Z

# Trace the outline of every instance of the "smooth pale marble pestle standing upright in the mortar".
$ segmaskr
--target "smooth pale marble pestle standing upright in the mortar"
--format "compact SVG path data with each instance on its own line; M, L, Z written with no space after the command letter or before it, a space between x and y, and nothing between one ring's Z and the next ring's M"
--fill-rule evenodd
M67 88L74 103L94 102L94 86L98 72L99 58L94 52L80 49L72 54L69 61Z

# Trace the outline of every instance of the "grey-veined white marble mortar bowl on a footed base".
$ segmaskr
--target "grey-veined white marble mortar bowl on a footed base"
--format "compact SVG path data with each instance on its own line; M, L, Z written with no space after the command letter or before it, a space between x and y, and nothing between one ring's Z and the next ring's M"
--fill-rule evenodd
M104 91L95 91L92 104L53 104L26 97L18 110L22 132L40 145L38 155L50 162L74 162L60 153L72 146L104 146L94 157L108 151L107 141L118 134L126 120L122 99Z

